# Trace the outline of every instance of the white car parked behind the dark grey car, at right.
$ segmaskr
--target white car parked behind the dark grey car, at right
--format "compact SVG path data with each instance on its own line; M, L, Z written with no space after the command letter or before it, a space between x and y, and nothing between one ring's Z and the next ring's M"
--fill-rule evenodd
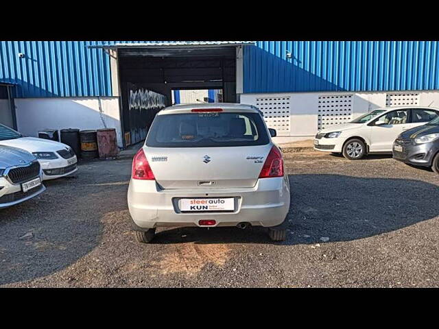
M314 139L314 149L341 153L350 160L366 154L392 154L393 142L401 132L425 125L438 116L439 108L377 108L350 123L321 130Z

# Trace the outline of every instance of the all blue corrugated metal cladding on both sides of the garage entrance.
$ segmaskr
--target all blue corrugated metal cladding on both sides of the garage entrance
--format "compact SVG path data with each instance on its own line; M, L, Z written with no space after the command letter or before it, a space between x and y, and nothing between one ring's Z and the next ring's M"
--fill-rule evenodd
M16 97L111 96L110 58L86 46L120 42L147 41L2 41L0 81ZM244 49L244 93L439 89L438 44L259 41Z

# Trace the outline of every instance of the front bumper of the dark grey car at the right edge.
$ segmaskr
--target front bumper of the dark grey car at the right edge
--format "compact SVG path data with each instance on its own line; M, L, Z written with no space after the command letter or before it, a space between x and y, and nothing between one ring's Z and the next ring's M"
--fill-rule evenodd
M395 146L403 147L403 151L396 151ZM425 144L401 143L395 141L392 148L392 156L395 160L421 167L431 167L434 156L439 151L439 143Z

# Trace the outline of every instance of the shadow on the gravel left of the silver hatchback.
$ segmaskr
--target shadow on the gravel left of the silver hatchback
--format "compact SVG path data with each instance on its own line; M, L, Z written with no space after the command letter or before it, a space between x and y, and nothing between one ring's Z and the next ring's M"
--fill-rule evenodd
M101 219L127 208L129 164L121 174L115 163L84 162L76 177L45 181L38 197L0 210L0 285L48 276L99 245Z

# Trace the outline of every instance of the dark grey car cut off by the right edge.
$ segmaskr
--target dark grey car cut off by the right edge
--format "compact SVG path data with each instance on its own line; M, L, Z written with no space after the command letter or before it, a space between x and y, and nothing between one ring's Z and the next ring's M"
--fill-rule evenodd
M400 134L393 144L393 158L439 173L439 117Z

